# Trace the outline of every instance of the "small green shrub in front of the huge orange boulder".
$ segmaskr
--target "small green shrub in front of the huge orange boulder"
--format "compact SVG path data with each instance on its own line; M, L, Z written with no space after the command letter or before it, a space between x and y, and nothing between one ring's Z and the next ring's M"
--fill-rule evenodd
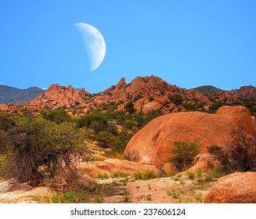
M173 155L167 160L171 162L178 171L185 171L193 164L193 159L200 152L200 145L197 142L173 142Z

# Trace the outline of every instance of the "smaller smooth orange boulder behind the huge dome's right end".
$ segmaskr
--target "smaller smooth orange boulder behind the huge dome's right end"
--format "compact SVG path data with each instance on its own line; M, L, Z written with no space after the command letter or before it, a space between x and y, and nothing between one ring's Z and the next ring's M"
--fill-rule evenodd
M250 135L256 134L256 124L251 118L250 111L244 106L222 106L216 112L236 124L237 127L247 131Z

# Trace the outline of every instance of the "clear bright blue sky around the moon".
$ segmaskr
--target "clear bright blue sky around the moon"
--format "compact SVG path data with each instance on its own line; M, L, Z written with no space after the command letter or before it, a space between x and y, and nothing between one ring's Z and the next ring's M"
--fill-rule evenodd
M181 88L256 86L255 11L253 0L1 1L0 83L100 92L155 75ZM74 23L105 38L93 72Z

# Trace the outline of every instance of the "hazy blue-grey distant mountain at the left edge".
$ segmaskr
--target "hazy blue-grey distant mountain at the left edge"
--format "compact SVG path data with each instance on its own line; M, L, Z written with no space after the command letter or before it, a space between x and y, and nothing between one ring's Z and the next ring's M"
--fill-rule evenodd
M25 104L25 102L35 99L45 90L37 87L19 89L6 85L0 85L0 104L1 103L17 103Z

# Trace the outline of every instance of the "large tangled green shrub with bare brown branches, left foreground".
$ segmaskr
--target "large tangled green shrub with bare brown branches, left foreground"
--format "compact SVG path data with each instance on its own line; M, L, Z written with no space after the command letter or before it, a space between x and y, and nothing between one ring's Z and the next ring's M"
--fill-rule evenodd
M41 118L21 117L2 138L0 171L18 182L38 181L62 171L76 178L78 160L88 159L86 129Z

